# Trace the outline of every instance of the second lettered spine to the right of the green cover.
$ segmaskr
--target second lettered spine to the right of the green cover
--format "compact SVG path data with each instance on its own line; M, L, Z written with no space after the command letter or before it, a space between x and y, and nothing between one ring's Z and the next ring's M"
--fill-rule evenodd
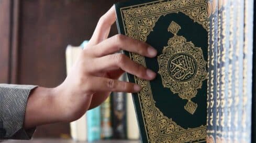
M228 72L228 56L229 51L229 1L218 2L218 63L217 63L217 115L216 115L216 142L223 142L222 131L225 126L226 104L225 97L227 96L227 72Z

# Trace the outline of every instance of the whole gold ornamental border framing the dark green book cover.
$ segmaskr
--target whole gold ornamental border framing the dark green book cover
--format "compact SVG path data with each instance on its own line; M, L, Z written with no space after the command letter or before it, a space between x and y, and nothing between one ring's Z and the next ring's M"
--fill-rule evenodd
M120 9L120 12L124 21L125 35L144 42L147 41L147 36L153 30L158 19L173 12L182 12L208 31L206 0L155 1L124 7ZM134 53L129 53L129 56L133 61L146 67L144 57ZM183 128L177 125L155 106L150 82L136 76L134 79L143 87L138 96L149 142L187 142L205 139L205 125L196 128Z

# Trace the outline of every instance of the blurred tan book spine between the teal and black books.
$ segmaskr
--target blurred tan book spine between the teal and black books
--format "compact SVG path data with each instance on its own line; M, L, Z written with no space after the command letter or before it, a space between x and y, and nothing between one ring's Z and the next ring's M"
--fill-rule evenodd
M109 139L112 135L110 97L108 97L101 105L101 138Z

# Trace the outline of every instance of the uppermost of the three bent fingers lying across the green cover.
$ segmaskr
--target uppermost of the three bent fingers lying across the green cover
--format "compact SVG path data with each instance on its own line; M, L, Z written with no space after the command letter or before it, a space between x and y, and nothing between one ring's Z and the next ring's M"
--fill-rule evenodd
M147 43L134 40L133 38L121 34L110 37L107 40L99 43L98 45L96 45L92 52L95 54L95 56L102 57L105 55L116 53L120 49L150 58L157 56L157 50L155 50Z

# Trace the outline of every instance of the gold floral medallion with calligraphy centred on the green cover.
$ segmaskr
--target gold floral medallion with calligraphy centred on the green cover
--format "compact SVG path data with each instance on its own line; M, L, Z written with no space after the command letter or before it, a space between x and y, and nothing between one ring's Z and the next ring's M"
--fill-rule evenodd
M187 42L183 36L177 36L180 25L172 21L168 31L174 36L163 48L163 54L158 57L159 74L164 87L168 87L174 94L188 100L184 109L194 114L197 104L191 101L202 87L207 78L206 61L201 48Z

